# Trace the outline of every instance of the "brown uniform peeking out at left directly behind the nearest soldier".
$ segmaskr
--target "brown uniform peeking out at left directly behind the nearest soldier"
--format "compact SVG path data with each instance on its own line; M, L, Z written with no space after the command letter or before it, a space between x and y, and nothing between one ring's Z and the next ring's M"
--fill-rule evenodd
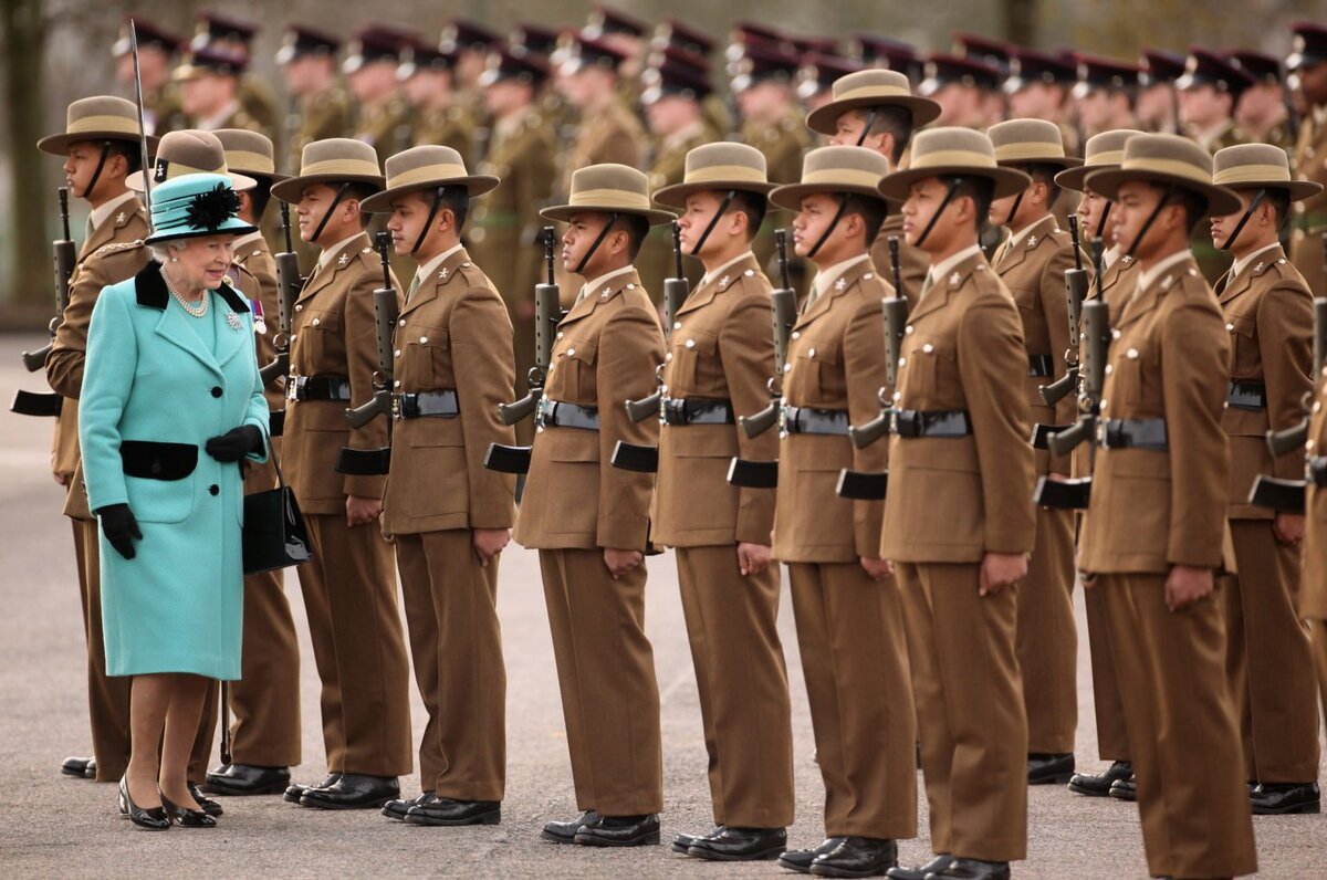
M1088 288L1087 299L1105 299L1111 313L1111 327L1120 323L1124 303L1133 295L1137 283L1139 264L1131 256L1120 255L1101 272L1101 289L1096 284ZM1091 446L1083 445L1074 450L1074 478L1092 475ZM1079 515L1082 526L1082 514ZM1120 698L1120 680L1115 674L1115 645L1111 638L1109 616L1105 612L1105 596L1100 589L1084 589L1083 605L1087 609L1087 642L1092 656L1092 706L1096 715L1096 751L1101 761L1128 761L1129 735L1124 729L1124 703Z

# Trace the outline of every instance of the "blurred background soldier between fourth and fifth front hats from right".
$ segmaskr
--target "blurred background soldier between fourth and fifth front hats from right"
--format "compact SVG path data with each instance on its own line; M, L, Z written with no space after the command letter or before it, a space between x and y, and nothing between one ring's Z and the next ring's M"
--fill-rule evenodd
M677 186L686 170L686 157L695 147L713 139L705 125L701 101L710 93L707 73L697 66L693 56L669 49L656 57L654 65L642 77L646 88L641 93L645 121L653 135L648 174L656 191ZM699 235L699 232L697 234ZM691 289L701 280L698 260L682 265ZM649 238L636 259L636 271L646 289L662 295L664 279L677 275L673 260L673 235L667 226L650 228Z

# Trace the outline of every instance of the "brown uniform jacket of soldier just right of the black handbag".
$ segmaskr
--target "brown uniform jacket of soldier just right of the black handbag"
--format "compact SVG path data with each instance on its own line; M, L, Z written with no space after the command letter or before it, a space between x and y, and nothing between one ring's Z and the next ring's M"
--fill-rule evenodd
M285 407L285 478L307 514L344 514L348 495L382 498L382 477L338 474L342 446L382 449L386 419L352 429L346 406L373 396L378 342L373 291L382 284L378 255L368 235L345 243L300 291L291 316L291 374L349 378L350 402L288 401ZM397 291L401 285L393 277Z

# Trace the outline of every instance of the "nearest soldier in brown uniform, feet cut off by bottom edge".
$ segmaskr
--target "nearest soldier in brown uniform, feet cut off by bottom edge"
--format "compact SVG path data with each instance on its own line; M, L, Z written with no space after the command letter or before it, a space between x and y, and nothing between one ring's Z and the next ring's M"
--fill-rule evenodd
M1213 596L1229 498L1221 430L1230 340L1189 252L1208 212L1239 208L1212 184L1210 154L1140 134L1116 170L1087 175L1115 202L1137 287L1111 344L1079 567L1111 619L1148 871L1257 871L1239 729Z

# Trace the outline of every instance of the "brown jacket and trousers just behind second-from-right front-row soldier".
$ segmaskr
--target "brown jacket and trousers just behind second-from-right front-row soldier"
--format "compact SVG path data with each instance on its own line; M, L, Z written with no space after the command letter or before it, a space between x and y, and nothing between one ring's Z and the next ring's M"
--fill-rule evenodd
M991 264L1014 295L1023 320L1028 369L1023 380L1032 425L1068 425L1078 411L1072 394L1056 406L1040 386L1064 376L1070 348L1064 272L1074 268L1074 240L1054 216L1035 223L1018 242L1009 240ZM1050 366L1047 374L1046 366ZM1070 457L1036 450L1036 474L1070 475ZM1078 730L1078 625L1074 623L1074 511L1036 508L1036 543L1027 577L1018 589L1018 668L1023 674L1027 750L1074 751Z

